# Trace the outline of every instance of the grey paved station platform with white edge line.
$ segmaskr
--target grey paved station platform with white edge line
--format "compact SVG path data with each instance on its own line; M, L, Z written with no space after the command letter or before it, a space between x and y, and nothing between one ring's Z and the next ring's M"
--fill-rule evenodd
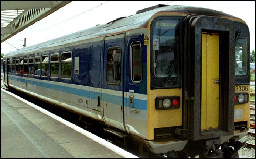
M1 89L1 158L137 158L19 98Z

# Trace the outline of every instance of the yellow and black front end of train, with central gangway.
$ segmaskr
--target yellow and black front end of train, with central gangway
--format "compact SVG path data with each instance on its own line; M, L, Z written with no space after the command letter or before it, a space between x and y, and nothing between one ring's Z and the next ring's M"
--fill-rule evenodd
M238 18L175 13L158 13L148 26L147 146L157 154L237 155L250 120L248 27Z

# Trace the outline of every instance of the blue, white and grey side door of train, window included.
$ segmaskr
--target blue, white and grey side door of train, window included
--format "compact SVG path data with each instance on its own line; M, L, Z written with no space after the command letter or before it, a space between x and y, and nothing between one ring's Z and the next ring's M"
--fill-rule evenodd
M108 126L125 131L123 57L125 34L105 37L103 59L103 105Z

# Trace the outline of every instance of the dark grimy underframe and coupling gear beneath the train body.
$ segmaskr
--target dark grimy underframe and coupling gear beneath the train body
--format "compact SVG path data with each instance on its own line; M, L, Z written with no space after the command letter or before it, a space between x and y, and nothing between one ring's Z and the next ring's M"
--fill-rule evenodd
M15 89L9 88L9 90L14 91ZM30 98L30 100L33 99ZM57 105L55 106L56 111L61 108ZM241 127L239 130L235 130L233 135L192 141L191 139L184 138L187 134L181 134L182 131L180 131L179 127L176 127L168 130L175 135L166 135L160 138L155 138L153 141L149 141L136 135L124 134L114 128L107 128L104 124L100 124L77 112L71 112L71 110L68 109L65 110L66 112L73 114L70 116L70 119L75 121L76 125L86 128L89 126L89 129L95 129L96 127L96 132L99 133L100 131L101 133L99 134L105 134L103 138L126 150L133 149L132 151L135 152L135 154L137 153L139 157L188 158L190 156L191 158L194 158L199 156L199 158L238 158L238 150L246 142L246 140L242 142L239 142L239 140L249 131L249 128Z

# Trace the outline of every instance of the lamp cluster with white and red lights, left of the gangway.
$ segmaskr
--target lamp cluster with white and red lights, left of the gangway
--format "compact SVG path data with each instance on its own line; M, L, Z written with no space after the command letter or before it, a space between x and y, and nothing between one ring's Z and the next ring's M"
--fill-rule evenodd
M155 107L157 110L180 108L179 96L157 97Z

